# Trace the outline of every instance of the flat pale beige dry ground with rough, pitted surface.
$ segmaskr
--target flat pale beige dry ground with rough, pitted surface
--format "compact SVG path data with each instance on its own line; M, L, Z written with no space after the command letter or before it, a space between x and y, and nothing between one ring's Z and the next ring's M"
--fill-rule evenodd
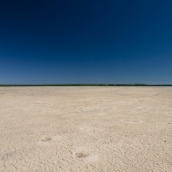
M172 172L171 87L0 87L0 172Z

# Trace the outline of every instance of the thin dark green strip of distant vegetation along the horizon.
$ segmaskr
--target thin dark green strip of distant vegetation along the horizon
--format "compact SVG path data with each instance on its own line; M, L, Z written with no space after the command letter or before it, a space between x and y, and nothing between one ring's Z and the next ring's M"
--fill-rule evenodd
M1 87L32 87L32 86L172 86L172 84L0 84Z

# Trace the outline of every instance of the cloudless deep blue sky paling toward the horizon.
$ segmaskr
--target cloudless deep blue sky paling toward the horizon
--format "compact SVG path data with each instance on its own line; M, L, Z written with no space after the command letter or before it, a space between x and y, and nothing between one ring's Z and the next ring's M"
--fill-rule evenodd
M172 84L171 0L0 2L0 84Z

